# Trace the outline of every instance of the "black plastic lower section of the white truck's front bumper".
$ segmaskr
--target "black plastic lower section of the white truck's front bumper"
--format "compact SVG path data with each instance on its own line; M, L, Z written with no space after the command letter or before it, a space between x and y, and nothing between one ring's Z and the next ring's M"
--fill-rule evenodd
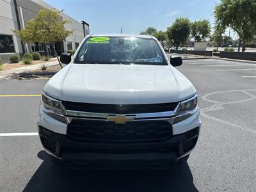
M64 163L88 166L152 166L175 164L198 140L199 127L159 143L84 143L38 127L45 150Z

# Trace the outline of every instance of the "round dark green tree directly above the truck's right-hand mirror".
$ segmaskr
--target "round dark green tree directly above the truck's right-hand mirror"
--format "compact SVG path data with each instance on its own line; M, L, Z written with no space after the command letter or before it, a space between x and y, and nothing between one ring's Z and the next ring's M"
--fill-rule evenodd
M172 26L166 30L168 40L178 49L180 45L186 44L189 39L190 22L188 18L179 17L175 19Z

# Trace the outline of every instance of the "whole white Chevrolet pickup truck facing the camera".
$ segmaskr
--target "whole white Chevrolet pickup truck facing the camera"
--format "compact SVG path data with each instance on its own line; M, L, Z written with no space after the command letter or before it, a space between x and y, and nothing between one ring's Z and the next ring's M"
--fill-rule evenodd
M88 35L44 86L38 132L54 163L155 167L186 162L200 132L197 94L153 36Z

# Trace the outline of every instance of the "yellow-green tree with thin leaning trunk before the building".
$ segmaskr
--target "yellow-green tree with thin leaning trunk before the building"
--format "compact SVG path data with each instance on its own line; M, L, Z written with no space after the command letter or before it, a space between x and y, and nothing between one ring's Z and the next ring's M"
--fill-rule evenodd
M26 28L20 29L20 31L13 31L19 36L20 40L28 43L39 42L39 43L49 43L52 45L54 50L54 55L57 57L60 67L61 63L58 58L55 43L65 40L68 35L73 31L68 31L65 29L65 24L70 22L69 20L61 20L58 11L55 9L47 10L42 8L35 19L26 22Z

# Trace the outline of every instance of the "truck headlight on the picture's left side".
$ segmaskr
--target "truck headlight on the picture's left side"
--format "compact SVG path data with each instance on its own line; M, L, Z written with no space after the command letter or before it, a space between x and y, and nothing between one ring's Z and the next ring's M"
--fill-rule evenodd
M60 122L66 123L65 117L63 116L64 110L61 107L60 100L53 99L52 97L49 97L43 93L41 101L42 105L44 106L43 111L47 113L47 115Z

